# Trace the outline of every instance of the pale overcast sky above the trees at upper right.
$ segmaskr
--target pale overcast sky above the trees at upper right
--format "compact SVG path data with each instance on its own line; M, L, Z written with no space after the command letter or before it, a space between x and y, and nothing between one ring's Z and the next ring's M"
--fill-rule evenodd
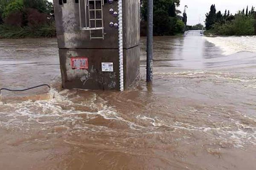
M251 9L256 6L256 0L180 0L179 10L184 11L184 6L187 5L188 25L204 23L205 14L209 12L210 6L215 4L217 11L224 12L225 9L230 10L232 14L236 11L246 8L247 5Z

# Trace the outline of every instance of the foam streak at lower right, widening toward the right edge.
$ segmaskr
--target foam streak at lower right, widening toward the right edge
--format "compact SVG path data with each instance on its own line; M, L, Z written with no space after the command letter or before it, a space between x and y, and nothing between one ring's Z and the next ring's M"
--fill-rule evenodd
M250 122L256 122L256 118L248 117L241 113L239 114L243 116L242 119L245 118ZM187 131L187 134L205 133L206 136L212 136L215 138L215 140L220 141L220 143L233 144L234 147L244 147L245 144L256 145L256 127L253 125L243 124L240 121L236 121L234 119L230 119L230 121L227 122L221 122L219 125L214 125L215 127L197 127L189 123L169 122L168 120L157 118L153 119L142 115L137 116L137 119L145 121L150 120L151 124L154 126L151 128L151 131L158 130L158 132L161 132L162 127L169 127L174 129L173 132L175 133L177 133L177 130L185 130ZM230 126L230 124L232 126ZM150 131L148 133L150 133Z

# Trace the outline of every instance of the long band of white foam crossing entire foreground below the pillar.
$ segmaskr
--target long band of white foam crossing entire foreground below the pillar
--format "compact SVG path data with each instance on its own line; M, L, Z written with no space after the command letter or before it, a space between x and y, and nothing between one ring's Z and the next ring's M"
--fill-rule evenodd
M160 117L139 115L135 118L140 121L145 121L143 125L140 125L123 118L122 114L118 113L111 106L106 105L106 101L96 94L90 96L90 99L87 100L87 102L74 103L68 98L68 95L72 93L70 93L70 91L61 91L58 93L57 91L52 90L50 95L54 97L49 100L35 102L25 101L4 105L5 107L12 109L9 112L0 112L0 126L21 128L24 125L38 124L41 125L39 126L41 129L45 129L47 126L61 126L66 127L67 130L134 133L119 129L112 129L101 125L87 125L86 122L84 122L84 119L95 119L98 116L102 116L106 120L124 122L131 130L136 130L137 133L164 133L166 130L163 130L163 128L166 129L167 127L173 129L173 132L177 130L186 130L188 133L206 133L206 136L215 135L215 137L221 141L233 142L236 147L241 147L244 144L256 145L256 127L253 127L252 125L244 125L239 121L230 120L230 123L235 128L229 127L228 125L230 124L227 124L227 126L217 125L216 127L196 127L189 123L169 122L168 119L161 119ZM97 102L100 103L100 107ZM61 108L61 105L67 105L67 108L69 109L63 109ZM96 111L79 111L74 108L77 105L96 108ZM81 115L85 115L86 118L81 117ZM244 116L244 118L249 120L246 116ZM250 118L250 121L256 122L254 118ZM225 125L225 122L223 124Z

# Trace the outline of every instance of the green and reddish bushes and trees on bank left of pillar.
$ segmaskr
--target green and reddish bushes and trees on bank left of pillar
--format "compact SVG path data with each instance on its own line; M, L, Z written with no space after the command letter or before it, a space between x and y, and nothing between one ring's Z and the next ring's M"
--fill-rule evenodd
M0 0L0 38L55 37L48 0Z

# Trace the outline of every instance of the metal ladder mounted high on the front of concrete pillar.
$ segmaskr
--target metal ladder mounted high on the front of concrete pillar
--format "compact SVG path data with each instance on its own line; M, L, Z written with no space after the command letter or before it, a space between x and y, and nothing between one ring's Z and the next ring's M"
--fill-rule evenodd
M79 1L80 28L81 30L84 30L84 31L90 31L90 40L91 39L104 40L103 11L102 11L102 8L104 6L103 1L104 0L84 0L84 17L85 17L84 23L82 23L81 0Z

